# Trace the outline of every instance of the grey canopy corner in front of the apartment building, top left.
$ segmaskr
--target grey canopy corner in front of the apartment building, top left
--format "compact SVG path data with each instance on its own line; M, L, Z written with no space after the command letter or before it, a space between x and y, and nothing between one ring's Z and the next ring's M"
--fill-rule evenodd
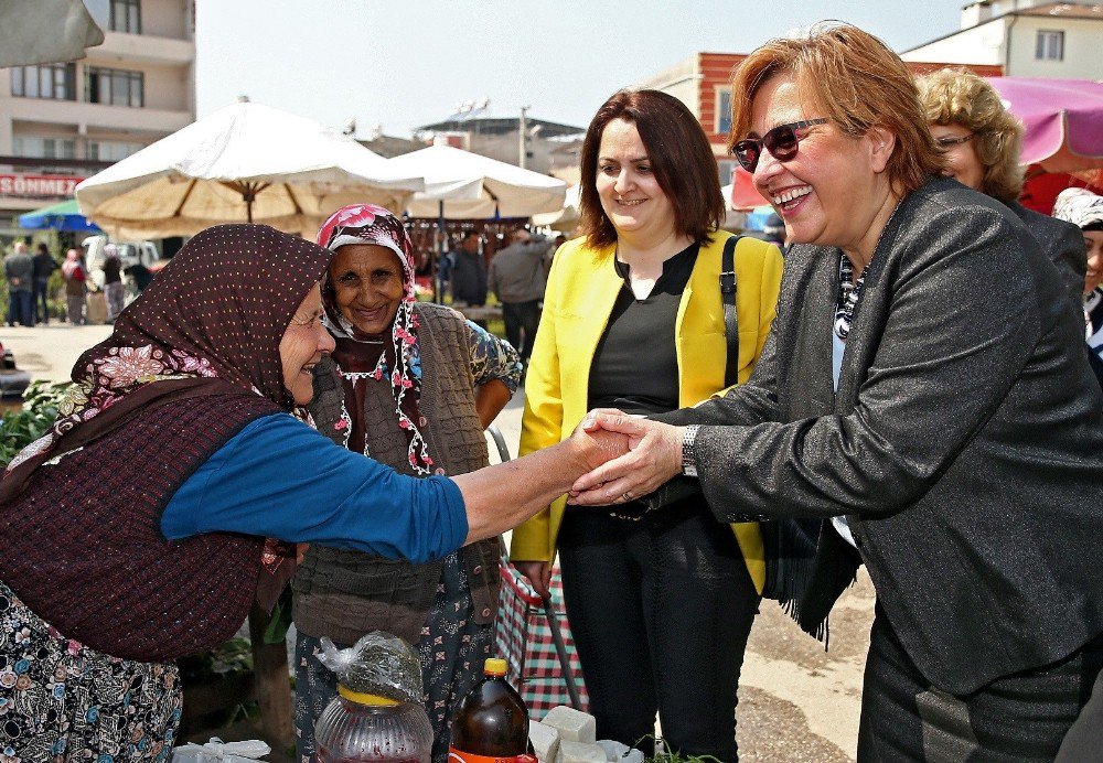
M103 44L104 32L81 0L0 2L0 67L76 61Z

